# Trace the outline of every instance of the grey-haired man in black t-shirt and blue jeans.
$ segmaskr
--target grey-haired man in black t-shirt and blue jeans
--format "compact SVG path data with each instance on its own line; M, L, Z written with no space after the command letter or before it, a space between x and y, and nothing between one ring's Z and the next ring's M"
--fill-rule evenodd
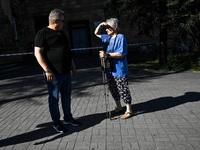
M79 126L71 114L71 74L77 70L72 59L68 39L62 30L64 12L54 9L49 14L49 26L42 28L35 37L35 57L44 70L49 92L49 110L53 128L57 132L66 132L63 124ZM59 93L61 94L64 121L60 121Z

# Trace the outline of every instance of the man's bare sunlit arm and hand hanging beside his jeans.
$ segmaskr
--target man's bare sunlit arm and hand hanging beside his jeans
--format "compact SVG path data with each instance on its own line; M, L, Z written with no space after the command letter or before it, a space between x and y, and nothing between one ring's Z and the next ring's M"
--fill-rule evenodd
M48 68L48 65L46 64L43 55L42 55L42 51L43 51L43 47L35 47L34 50L34 55L39 63L39 65L42 67L42 69L44 71L46 71ZM54 75L52 72L46 72L46 76L47 76L47 81L52 82L54 81Z

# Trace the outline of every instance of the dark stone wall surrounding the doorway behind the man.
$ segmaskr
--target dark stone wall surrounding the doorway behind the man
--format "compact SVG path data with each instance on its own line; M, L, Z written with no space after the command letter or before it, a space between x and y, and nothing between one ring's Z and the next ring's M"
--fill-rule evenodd
M13 26L9 24L8 19L0 9L0 19L4 21L0 24L0 47L17 46L20 51L33 51L31 44L36 34L34 18L39 16L48 17L49 12L54 8L63 10L66 14L66 26L64 30L69 33L68 22L70 21L89 21L89 33L91 46L101 46L101 40L94 35L95 22L105 21L111 14L106 12L105 4L107 0L12 0L12 12L16 19L18 40L14 39ZM128 43L152 42L156 41L154 37L138 36L137 27L130 26L122 15L120 17L121 32L127 37Z

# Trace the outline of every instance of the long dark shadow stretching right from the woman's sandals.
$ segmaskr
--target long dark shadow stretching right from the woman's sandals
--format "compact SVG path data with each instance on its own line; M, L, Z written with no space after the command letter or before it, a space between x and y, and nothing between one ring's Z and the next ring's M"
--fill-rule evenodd
M188 102L196 101L200 101L200 93L186 92L184 95L178 97L161 97L147 102L134 104L132 105L132 109L135 115L140 115L144 113L162 111Z

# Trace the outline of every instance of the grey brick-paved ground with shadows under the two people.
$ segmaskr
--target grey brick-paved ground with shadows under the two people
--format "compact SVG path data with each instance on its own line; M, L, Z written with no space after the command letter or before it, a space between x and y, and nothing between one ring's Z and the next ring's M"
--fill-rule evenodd
M67 126L66 134L52 128L42 74L2 79L0 150L199 150L199 79L200 73L164 74L131 67L135 116L110 120L101 68L80 68L73 78L72 113L82 125Z

